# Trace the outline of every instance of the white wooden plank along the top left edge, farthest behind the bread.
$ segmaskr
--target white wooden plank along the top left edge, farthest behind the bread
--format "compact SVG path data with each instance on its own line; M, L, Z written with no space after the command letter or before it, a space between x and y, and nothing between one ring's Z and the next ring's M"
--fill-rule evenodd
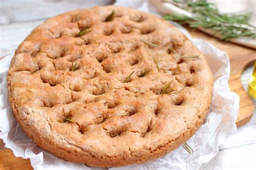
M107 5L113 2L113 0L1 0L0 24L46 19L66 11Z

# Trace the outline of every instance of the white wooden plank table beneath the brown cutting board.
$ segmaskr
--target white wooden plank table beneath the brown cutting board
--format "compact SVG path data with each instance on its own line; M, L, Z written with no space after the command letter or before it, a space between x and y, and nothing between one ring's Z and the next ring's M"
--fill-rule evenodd
M252 0L254 1L254 0ZM64 11L106 5L113 1L0 1L0 57L15 51L33 28L46 18ZM256 53L255 53L256 55ZM252 67L241 77L245 88L252 73ZM254 100L254 104L256 104ZM241 126L237 134L219 147L220 152L201 169L256 169L256 114L250 122Z

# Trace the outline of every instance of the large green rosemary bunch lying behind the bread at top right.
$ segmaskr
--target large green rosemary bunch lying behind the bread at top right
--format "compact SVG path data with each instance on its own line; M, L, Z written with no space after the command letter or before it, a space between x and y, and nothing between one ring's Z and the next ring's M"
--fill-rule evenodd
M180 24L187 23L192 28L210 29L220 34L222 40L239 37L256 39L256 27L248 23L251 17L250 12L221 14L216 5L208 3L207 0L173 0L168 2L191 12L192 17L170 14L163 17L166 20L174 20Z

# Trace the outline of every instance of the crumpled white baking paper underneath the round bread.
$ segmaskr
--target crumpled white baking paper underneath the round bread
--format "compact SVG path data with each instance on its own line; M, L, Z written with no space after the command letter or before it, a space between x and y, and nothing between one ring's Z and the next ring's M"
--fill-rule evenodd
M147 1L119 0L116 4L157 14L157 10ZM214 77L212 103L206 121L187 141L195 152L189 154L180 146L162 158L111 169L199 169L219 152L218 146L237 130L235 119L239 110L239 96L228 88L230 62L227 54L204 40L192 39L183 27L177 26L205 55ZM97 169L59 159L42 150L26 136L12 115L8 102L6 76L12 56L13 54L0 60L0 138L4 140L5 147L10 148L16 157L30 158L34 169Z

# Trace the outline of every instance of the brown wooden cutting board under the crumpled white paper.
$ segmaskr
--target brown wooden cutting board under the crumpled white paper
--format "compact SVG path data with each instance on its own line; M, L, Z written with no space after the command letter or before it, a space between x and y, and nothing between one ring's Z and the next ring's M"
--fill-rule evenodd
M242 71L252 61L256 60L256 51L251 48L232 44L231 42L220 41L197 30L188 28L187 30L193 38L204 39L228 54L231 63L231 75L228 84L230 85L231 91L234 91L240 96L240 110L236 124L239 127L250 121L254 111L254 104L242 88L240 76ZM4 148L3 141L0 140L0 169L32 169L32 167L30 160L15 157L10 149Z

